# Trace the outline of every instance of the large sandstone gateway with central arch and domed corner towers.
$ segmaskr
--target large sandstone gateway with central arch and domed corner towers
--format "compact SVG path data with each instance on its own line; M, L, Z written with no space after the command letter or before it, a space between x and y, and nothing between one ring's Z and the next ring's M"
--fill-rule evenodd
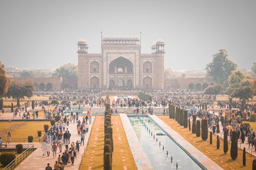
M141 36L140 36L141 37ZM101 53L78 40L78 89L164 89L164 41L141 54L139 37L102 37Z

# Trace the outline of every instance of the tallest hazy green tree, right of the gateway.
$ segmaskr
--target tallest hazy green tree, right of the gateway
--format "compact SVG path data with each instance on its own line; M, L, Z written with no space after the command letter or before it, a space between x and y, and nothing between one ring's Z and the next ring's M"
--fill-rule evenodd
M227 84L231 71L237 68L237 64L228 59L228 52L225 49L219 50L212 57L212 62L206 65L207 75L213 77L216 83Z

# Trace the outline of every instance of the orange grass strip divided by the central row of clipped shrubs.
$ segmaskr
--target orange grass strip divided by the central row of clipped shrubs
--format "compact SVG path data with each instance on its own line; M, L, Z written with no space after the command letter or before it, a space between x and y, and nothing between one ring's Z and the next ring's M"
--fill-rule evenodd
M112 116L114 152L112 169L137 169L119 115ZM104 116L96 116L81 169L103 169Z

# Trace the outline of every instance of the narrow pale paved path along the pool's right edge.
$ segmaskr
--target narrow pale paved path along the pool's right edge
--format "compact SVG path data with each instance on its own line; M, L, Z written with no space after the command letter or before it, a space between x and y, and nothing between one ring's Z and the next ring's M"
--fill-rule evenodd
M217 163L212 161L210 158L205 156L201 151L195 148L191 143L184 139L178 132L173 130L167 124L165 124L159 117L156 115L150 116L160 127L162 127L170 136L172 136L180 145L183 147L190 155L193 155L195 159L198 160L206 169L223 169Z

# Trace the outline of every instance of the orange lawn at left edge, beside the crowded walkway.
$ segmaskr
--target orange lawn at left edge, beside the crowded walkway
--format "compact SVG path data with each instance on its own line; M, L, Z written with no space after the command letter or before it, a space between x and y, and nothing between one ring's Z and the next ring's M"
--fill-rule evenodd
M7 138L7 133L11 133L11 142L23 142L23 141L12 141L12 139L24 139L28 136L38 138L37 131L42 131L44 134L44 125L47 124L51 127L50 121L38 121L38 122L1 122L0 124L0 136L2 139ZM4 140L6 142L6 140Z

